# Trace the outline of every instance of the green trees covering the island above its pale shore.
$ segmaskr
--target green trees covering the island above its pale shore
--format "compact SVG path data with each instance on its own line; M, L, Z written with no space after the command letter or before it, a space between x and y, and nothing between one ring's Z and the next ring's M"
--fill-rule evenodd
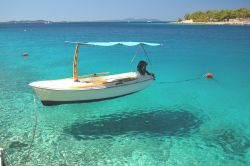
M193 22L221 22L229 21L230 19L247 20L250 19L250 9L198 11L186 14L184 19L192 20Z

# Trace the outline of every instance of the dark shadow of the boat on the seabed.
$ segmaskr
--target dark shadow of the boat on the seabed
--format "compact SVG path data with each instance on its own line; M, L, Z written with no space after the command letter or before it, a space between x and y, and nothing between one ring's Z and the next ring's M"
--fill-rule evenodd
M98 139L113 136L144 134L148 136L188 136L199 128L201 120L189 111L157 110L113 114L97 120L76 122L64 128L63 132L74 138Z

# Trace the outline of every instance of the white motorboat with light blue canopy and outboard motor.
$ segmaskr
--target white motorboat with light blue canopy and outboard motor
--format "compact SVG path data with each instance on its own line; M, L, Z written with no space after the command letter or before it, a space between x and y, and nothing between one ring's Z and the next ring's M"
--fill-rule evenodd
M108 72L101 72L85 76L78 76L78 49L80 46L123 45L141 46L145 51L145 45L159 46L160 44L144 42L75 43L76 49L73 63L73 78L38 81L29 84L45 106L80 102L95 102L129 95L146 88L155 78L154 74L149 73L146 70L147 63L145 61L140 61L137 66L137 72L127 72L106 76L102 75L108 74ZM132 61L134 60L134 57Z

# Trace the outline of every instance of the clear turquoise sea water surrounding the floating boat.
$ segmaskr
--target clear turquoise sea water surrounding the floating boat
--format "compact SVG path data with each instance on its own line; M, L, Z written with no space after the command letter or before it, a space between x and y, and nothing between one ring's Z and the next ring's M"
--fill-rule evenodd
M75 46L66 40L162 43L146 47L156 81L89 104L45 107L37 98L27 165L250 165L250 27L153 23L0 25L0 147L8 163L22 165L32 139L28 84L71 77ZM130 71L135 50L81 47L79 72ZM144 58L139 52L132 68ZM206 72L215 79L202 78Z

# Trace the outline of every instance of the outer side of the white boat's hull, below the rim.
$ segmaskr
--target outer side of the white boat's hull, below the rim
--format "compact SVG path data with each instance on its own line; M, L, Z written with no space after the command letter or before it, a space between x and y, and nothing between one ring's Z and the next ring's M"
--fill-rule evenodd
M122 97L146 88L152 81L153 79L136 82L132 81L127 84L104 87L100 89L56 90L39 87L33 87L33 89L39 96L43 105L52 106L59 104L97 102Z

